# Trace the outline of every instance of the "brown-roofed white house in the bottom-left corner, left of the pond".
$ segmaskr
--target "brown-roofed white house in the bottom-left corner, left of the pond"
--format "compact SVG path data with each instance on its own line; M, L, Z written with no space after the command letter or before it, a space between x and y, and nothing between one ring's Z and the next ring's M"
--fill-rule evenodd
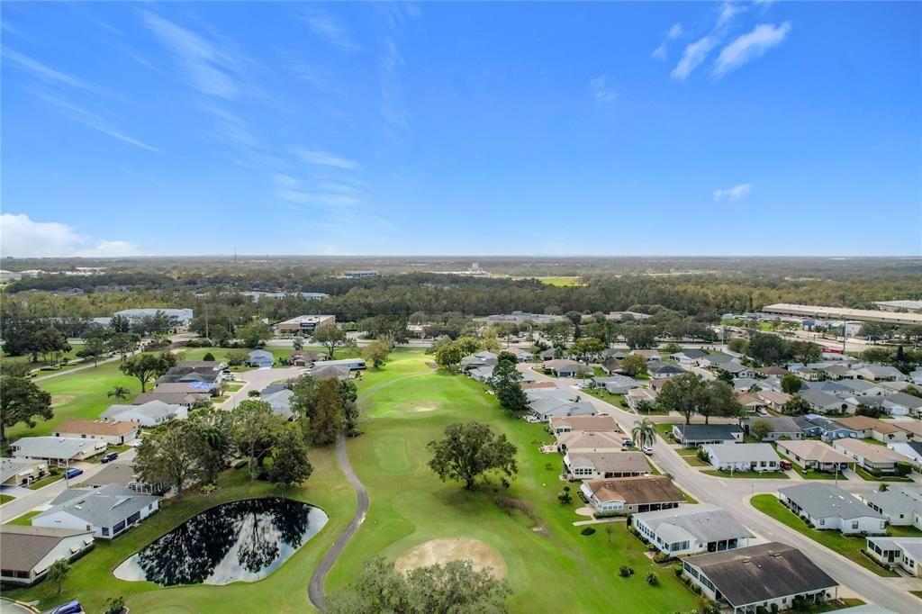
M0 581L34 584L57 561L76 559L93 546L93 532L86 528L0 526Z

